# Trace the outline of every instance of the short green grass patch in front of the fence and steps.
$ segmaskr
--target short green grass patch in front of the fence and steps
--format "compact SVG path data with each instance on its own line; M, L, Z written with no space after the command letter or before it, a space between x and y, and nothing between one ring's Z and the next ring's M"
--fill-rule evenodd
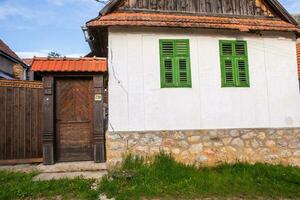
M97 199L98 192L90 189L94 180L52 180L31 179L35 173L0 172L0 199Z

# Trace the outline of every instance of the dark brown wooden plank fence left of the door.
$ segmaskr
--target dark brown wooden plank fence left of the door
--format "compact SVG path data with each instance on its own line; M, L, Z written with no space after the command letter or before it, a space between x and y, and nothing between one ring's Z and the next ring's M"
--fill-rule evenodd
M37 81L0 80L0 164L42 161L42 93Z

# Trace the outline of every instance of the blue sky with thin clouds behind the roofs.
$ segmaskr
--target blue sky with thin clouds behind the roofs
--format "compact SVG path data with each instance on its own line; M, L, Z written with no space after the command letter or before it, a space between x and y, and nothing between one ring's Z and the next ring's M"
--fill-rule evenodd
M300 0L280 0L300 13ZM0 0L0 38L21 57L50 51L78 57L89 52L81 26L98 15L95 0Z

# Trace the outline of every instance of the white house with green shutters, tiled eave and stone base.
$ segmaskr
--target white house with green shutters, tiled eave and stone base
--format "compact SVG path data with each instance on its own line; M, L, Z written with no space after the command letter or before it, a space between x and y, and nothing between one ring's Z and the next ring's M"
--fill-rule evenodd
M87 28L108 57L109 163L300 165L300 29L277 0L112 0Z

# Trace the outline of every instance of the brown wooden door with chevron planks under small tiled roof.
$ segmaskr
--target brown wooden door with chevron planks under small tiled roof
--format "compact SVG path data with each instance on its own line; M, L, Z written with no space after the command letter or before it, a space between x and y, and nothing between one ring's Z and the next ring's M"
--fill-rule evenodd
M92 79L56 80L56 158L93 160Z

